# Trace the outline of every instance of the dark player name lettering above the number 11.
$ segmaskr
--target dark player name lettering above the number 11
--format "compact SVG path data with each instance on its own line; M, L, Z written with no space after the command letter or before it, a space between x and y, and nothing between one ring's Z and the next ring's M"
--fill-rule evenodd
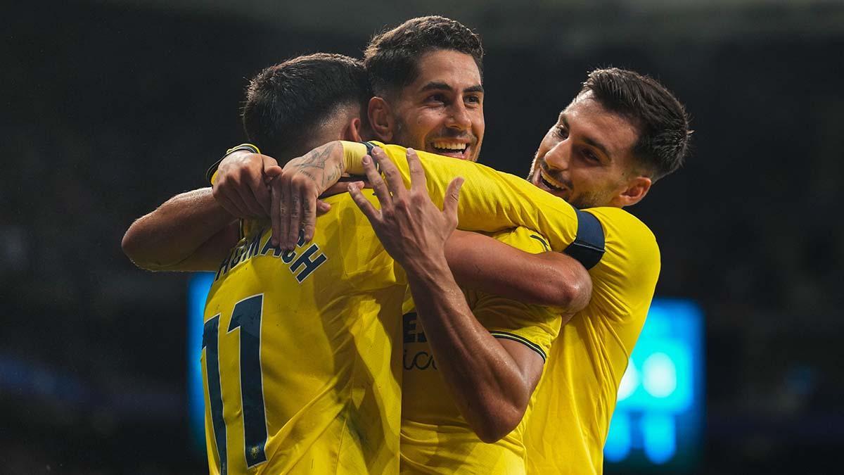
M296 243L296 248L293 251L285 253L281 248L273 246L272 237L269 233L265 234L264 229L241 241L235 248L231 250L229 255L220 263L217 275L214 276L214 281L217 281L221 276L225 276L229 270L232 270L237 265L241 265L249 259L256 256L263 256L270 254L272 251L273 257L281 259L284 264L289 264L287 268L290 273L295 276L296 281L300 283L305 281L308 276L311 276L317 267L325 263L328 257L322 253L322 250L316 243L311 243L305 248L305 238L300 237L299 242Z

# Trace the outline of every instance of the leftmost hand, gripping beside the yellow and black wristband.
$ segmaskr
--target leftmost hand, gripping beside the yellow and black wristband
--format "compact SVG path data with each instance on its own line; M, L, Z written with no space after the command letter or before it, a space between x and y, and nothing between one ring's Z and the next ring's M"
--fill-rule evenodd
M265 171L278 165L271 156L245 151L229 154L217 169L214 199L237 218L269 216L270 195Z

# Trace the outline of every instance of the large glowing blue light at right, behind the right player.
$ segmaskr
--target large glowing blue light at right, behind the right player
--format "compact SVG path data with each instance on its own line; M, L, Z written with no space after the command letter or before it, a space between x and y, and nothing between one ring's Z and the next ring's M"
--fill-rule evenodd
M608 465L694 465L703 420L703 317L688 300L655 298L619 385Z

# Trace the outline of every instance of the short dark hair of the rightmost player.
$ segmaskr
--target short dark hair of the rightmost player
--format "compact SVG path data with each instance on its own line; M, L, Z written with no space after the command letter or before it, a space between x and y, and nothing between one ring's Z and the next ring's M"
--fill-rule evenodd
M654 181L683 165L689 153L689 116L659 81L627 69L595 69L580 94L588 91L604 109L628 118L639 129L633 156Z

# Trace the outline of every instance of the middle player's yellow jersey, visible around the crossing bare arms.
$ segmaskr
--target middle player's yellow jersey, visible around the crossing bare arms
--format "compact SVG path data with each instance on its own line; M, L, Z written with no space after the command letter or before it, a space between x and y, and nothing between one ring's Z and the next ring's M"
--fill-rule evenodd
M534 254L548 250L544 238L524 227L493 237ZM560 331L559 314L484 292L468 291L466 298L493 336L546 358ZM493 444L479 440L449 396L415 313L404 314L402 335L402 473L524 473L523 424ZM522 421L529 418L530 407Z

